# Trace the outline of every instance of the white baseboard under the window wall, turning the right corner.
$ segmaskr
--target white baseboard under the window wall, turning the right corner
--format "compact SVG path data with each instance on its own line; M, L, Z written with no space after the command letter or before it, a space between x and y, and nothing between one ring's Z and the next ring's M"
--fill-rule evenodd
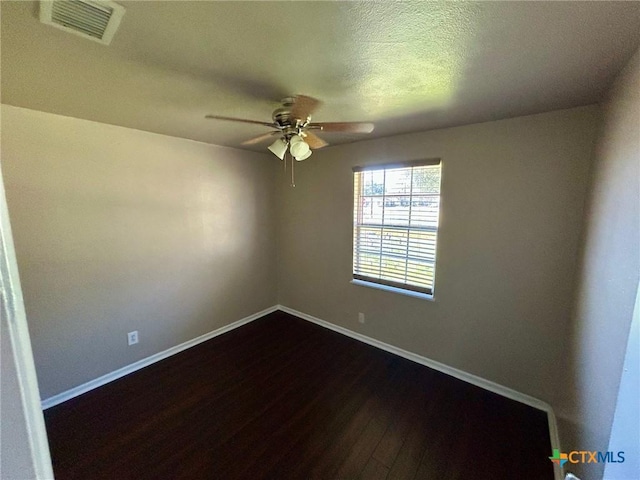
M412 362L416 362L429 368L433 368L434 370L450 375L454 378L457 378L458 380L470 383L471 385L475 385L476 387L489 390L490 392L497 393L498 395L501 395L503 397L507 397L511 400L515 400L538 410L542 410L546 412L547 420L549 422L549 439L551 448L557 448L560 450L560 439L558 436L558 425L556 422L556 416L553 413L553 408L551 408L551 405L549 405L548 403L534 398L530 395L526 395L511 388L505 387L504 385L492 382L491 380L478 377L477 375L467 373L463 370L458 370L457 368L453 368L436 360L423 357L422 355L418 355L417 353L409 352L402 348L398 348L388 343L381 342L380 340L376 340L375 338L367 337L366 335L362 335L361 333L354 332L352 330L341 327L339 325L335 325L331 322L327 322L326 320L322 320L312 315L299 312L298 310L294 310L293 308L289 308L284 305L278 305L278 309L282 310L283 312L290 313L291 315L295 315L296 317L302 318L303 320L307 320L309 322L320 325L321 327L333 330L334 332L346 335L347 337L359 340L363 343L379 348L386 352L393 353L394 355L398 355L399 357L406 358L407 360L411 360ZM562 480L563 478L560 468L554 467L554 475L556 480Z

